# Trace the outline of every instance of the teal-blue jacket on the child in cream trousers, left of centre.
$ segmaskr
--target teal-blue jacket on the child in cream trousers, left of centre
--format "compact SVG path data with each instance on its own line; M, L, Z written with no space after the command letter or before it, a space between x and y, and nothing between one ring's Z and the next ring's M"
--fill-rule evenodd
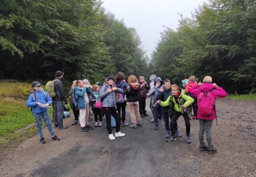
M85 109L86 104L85 104L85 92L87 94L91 94L91 89L88 87L75 87L75 99L77 100L77 106L78 109Z

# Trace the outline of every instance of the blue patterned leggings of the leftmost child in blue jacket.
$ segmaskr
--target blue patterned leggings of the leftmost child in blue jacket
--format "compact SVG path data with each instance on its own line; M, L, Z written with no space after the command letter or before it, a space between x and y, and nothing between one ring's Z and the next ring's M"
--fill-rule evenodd
M54 131L53 131L53 127L50 121L50 117L48 112L42 112L42 113L33 113L33 117L35 117L35 122L37 123L37 132L39 134L40 138L43 138L43 131L42 131L42 120L41 118L43 118L43 121L45 121L45 125L47 126L51 136L54 136Z

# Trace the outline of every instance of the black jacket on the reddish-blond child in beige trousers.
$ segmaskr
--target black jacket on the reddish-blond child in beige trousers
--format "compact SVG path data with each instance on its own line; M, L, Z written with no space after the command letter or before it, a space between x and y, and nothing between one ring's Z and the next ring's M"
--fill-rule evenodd
M125 89L126 98L127 102L138 102L140 100L140 88L139 84L138 85L129 85Z

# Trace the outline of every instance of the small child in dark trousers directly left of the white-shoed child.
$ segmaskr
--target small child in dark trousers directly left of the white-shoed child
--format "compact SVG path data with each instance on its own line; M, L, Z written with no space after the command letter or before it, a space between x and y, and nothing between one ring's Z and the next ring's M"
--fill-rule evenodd
M98 98L98 92L100 90L100 87L98 85L93 85L93 93L90 94L89 100L91 104L91 108L93 110L93 114L95 115L95 127L102 127L102 112L101 109L96 108L95 104L97 102Z

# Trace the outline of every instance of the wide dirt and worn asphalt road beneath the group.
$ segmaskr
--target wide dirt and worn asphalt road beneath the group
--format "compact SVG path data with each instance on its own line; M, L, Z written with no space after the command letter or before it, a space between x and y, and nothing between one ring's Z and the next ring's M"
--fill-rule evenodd
M217 115L214 155L199 151L196 120L191 121L192 144L186 144L182 117L182 138L170 143L163 122L156 131L151 117L142 118L143 126L135 130L121 128L126 136L115 141L108 140L106 128L81 132L69 118L64 119L67 130L55 130L60 142L44 129L46 144L33 136L1 155L0 176L256 176L256 102L219 99Z

